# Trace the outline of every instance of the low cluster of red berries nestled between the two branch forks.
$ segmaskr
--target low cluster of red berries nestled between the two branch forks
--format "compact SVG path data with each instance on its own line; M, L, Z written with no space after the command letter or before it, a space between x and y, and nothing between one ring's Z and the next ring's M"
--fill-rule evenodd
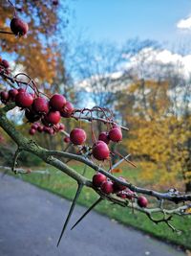
M126 181L126 179L122 176L120 176L118 179L124 182ZM100 173L97 173L93 176L93 185L96 188L99 188L100 191L106 195L113 193L116 194L119 198L130 200L134 200L134 198L137 198L137 203L139 207L144 208L148 204L147 198L143 196L137 197L136 194L128 189L126 186L118 184L117 182L113 182L112 180L109 180L105 175L102 175Z

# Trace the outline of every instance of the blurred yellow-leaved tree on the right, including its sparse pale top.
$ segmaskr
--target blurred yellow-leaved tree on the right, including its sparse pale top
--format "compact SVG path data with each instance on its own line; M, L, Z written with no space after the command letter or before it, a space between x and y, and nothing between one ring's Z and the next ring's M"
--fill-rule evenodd
M158 186L181 180L190 191L190 81L179 63L151 61L152 51L136 54L132 82L119 94L117 109L130 127L125 147L137 155L142 178Z

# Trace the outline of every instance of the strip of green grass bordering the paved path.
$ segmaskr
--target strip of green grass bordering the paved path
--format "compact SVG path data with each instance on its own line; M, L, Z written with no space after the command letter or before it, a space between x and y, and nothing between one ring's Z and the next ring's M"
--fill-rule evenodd
M79 173L83 172L83 166L81 164L73 164L73 168ZM74 180L53 168L50 168L49 171L51 175L31 174L19 176L22 177L23 180L51 191L56 195L68 199L74 198L74 192L76 190L76 183ZM86 174L89 178L94 175L93 171L89 168L87 169ZM123 171L122 175L127 176L129 181L140 185L138 184L138 174L138 169L128 168ZM78 199L78 203L84 206L90 206L97 198L98 197L94 191L89 188L84 188L83 193ZM172 232L172 230L164 223L156 225L152 221L148 220L144 214L138 212L133 214L131 209L111 204L108 201L102 201L97 205L96 211L125 225L136 227L139 230L149 233L161 240L165 240L173 244L180 244L183 248L191 248L191 216L183 218L174 217L172 224L181 231L180 233L175 233ZM83 224L83 221L80 224Z

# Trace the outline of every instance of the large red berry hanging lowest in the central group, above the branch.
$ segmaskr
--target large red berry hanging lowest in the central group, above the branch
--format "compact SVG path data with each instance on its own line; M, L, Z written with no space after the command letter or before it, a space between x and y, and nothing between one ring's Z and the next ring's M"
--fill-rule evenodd
M98 140L93 146L93 155L97 160L105 160L110 155L110 150L107 144L101 140Z

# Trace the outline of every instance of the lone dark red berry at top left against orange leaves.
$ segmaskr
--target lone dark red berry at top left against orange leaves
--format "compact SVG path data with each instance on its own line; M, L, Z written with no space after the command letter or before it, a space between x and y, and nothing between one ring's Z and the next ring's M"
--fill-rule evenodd
M29 30L28 24L20 18L12 18L10 27L14 35L26 35Z

